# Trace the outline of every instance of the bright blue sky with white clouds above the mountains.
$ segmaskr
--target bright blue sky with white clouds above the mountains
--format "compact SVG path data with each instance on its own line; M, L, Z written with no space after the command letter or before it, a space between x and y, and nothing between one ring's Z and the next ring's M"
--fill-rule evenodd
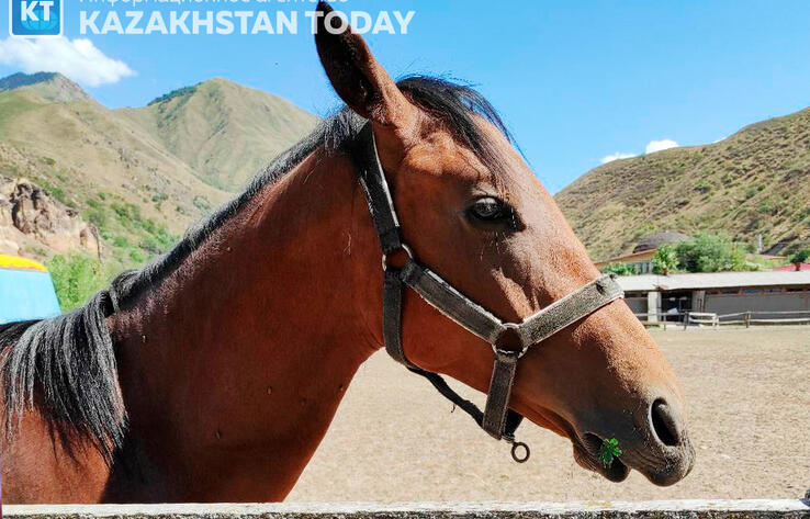
M214 7L297 11L299 33L283 35L82 35L81 10L101 10L100 27L110 10L148 16L157 9L168 20L169 10L212 7L64 1L61 38L10 38L9 11L0 9L0 75L60 71L110 108L140 106L215 76L317 115L339 105L303 16L315 8L308 0ZM552 192L611 158L713 143L810 105L807 1L338 0L335 7L372 20L381 11L414 11L407 34L365 35L378 59L394 77L431 74L476 86Z

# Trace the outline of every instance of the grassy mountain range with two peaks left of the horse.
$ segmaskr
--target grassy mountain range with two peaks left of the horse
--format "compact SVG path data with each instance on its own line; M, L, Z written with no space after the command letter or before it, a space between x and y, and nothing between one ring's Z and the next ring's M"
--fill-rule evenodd
M142 109L110 110L61 75L16 74L0 80L0 179L13 180L11 191L41 190L80 219L77 228L85 222L98 232L105 257L128 267L166 250L315 121L283 100L218 79ZM8 198L0 193L5 205ZM40 232L14 245L34 259L64 251Z

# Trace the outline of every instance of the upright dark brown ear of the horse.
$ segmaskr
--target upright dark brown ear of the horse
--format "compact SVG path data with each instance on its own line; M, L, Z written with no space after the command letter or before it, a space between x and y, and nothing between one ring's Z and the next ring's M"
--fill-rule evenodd
M416 108L374 59L365 41L338 18L339 13L331 14L334 10L325 1L318 2L317 11L315 45L340 99L359 115L378 124L408 125Z

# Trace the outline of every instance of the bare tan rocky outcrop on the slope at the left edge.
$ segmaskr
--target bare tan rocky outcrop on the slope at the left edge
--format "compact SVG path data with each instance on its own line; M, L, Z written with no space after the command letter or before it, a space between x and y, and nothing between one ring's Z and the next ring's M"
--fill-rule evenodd
M20 253L32 242L56 253L101 253L98 230L76 210L25 179L0 177L0 253Z

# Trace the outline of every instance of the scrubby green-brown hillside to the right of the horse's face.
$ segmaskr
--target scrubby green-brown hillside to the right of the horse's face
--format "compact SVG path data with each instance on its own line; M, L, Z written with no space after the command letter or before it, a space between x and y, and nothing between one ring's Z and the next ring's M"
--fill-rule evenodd
M786 251L810 242L810 109L716 144L593 169L555 196L594 259L661 230L729 234Z

